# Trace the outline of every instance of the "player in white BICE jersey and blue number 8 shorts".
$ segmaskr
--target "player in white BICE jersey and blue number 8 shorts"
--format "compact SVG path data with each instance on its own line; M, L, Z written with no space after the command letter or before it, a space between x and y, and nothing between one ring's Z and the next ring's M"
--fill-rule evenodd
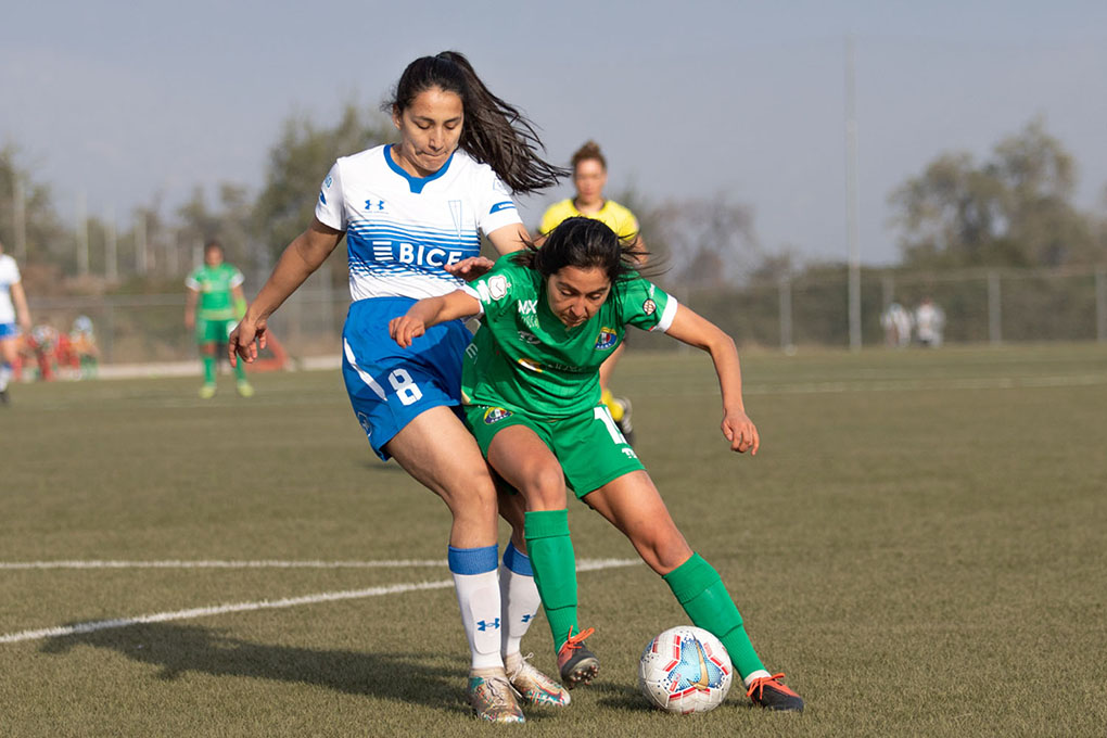
M416 300L448 294L490 266L480 235L500 252L527 239L511 193L548 187L566 171L537 155L541 142L459 53L412 62L389 108L400 143L340 158L323 180L315 217L284 249L229 339L231 361L265 346L269 315L346 238L353 303L342 336L343 375L373 450L395 458L453 513L448 561L472 652L468 699L477 715L523 723L528 703L567 705L565 688L520 655L540 599L525 553L517 496L497 503L492 475L459 418L462 356L472 335L443 324L414 350L389 322ZM497 508L513 526L499 565ZM513 689L514 688L514 689Z

